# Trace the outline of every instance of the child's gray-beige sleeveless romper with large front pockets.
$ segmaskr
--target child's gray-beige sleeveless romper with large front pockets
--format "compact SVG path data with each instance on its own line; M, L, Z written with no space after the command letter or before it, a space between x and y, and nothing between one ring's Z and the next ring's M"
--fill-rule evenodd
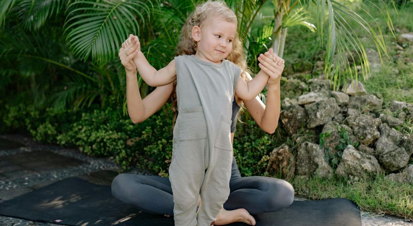
M194 55L175 57L175 63L178 117L169 167L174 220L179 226L207 226L230 193L231 107L241 69L228 60L217 65Z

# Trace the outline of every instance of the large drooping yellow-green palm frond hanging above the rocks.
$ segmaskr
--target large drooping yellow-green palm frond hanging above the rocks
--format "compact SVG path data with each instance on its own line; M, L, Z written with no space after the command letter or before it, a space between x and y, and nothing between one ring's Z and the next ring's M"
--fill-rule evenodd
M310 2L310 1L309 1ZM388 6L384 1L380 1L383 8L383 16L386 23L393 33L394 28L391 22L391 18L388 12ZM323 24L324 16L327 16L327 35L326 40L326 55L324 60L324 73L325 77L329 78L333 82L333 88L339 87L342 75L349 75L352 79L358 80L357 69L354 70L353 64L356 64L356 59L351 56L348 59L349 53L356 51L356 57L361 62L363 78L366 79L371 71L365 51L365 47L358 38L360 34L357 34L352 28L354 25L350 25L349 22L354 22L358 26L361 26L364 31L373 39L380 59L384 54L387 54L384 39L381 33L381 28L379 27L375 18L372 19L376 22L375 25L371 25L359 14L356 13L356 8L359 8L352 1L336 1L336 0L317 0L316 3L311 3L316 8L315 18L317 20L317 28L319 36L321 37L321 42L323 42ZM376 6L377 7L377 6ZM363 10L362 8L359 8ZM363 10L364 11L364 10ZM364 11L367 13L366 11ZM367 15L369 15L367 13ZM369 15L370 16L370 15ZM371 16L370 16L371 17ZM376 28L375 28L376 27ZM354 77L353 77L354 74ZM347 80L345 80L345 83Z

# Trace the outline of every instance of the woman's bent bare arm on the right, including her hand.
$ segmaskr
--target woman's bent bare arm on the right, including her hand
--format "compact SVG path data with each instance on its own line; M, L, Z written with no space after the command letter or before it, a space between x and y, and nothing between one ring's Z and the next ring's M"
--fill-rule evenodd
M266 106L258 96L252 100L244 100L244 104L257 125L266 133L272 134L276 131L280 118L280 80L284 70L284 60L271 57L272 49L264 55L270 60L266 59L265 61L262 61L265 68L261 67L261 69L266 73L271 74L267 82L268 90Z

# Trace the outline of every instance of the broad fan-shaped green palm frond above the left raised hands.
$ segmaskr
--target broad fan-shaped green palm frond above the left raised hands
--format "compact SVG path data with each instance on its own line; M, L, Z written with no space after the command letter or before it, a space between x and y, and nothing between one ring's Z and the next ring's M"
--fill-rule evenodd
M128 35L139 34L140 27L145 27L144 15L149 15L151 5L151 2L136 0L103 2L74 2L69 6L71 11L64 24L64 34L68 33L66 40L75 56L84 61L91 56L97 64L116 58Z

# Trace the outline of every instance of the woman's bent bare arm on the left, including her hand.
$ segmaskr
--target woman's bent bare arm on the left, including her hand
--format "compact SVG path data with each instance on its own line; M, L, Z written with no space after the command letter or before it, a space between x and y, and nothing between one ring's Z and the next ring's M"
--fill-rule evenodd
M168 100L173 90L173 83L157 87L144 99L141 98L137 85L136 67L132 58L136 55L138 46L130 42L131 36L119 50L119 57L126 71L126 102L130 120L133 123L140 123L155 114ZM126 56L126 54L128 56Z

